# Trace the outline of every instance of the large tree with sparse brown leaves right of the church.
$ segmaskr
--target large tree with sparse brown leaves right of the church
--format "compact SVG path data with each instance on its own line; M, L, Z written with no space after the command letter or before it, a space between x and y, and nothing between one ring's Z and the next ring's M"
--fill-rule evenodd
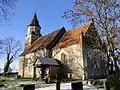
M104 43L103 51L109 62L114 62L116 72L120 51L120 0L75 0L70 10L66 10L64 17L73 26L92 21L101 40Z

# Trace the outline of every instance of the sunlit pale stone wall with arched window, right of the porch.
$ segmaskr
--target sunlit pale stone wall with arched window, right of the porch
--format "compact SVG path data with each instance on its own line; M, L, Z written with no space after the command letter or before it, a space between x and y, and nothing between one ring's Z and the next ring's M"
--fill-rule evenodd
M62 60L62 54L65 54L66 62ZM61 50L60 48L53 49L52 55L53 58L60 60L69 68L69 72L72 72L72 78L84 78L82 46L79 43L61 48Z

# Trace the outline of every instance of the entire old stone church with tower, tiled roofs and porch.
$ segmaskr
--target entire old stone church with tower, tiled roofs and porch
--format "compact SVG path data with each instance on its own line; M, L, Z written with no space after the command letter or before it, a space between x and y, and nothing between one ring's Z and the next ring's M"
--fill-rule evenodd
M100 37L92 22L66 30L41 34L36 13L27 26L24 51L19 55L22 77L88 79L106 75Z

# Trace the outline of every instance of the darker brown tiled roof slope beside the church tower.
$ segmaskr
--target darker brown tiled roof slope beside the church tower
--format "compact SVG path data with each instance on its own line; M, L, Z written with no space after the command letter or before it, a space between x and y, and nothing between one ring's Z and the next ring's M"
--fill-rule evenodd
M48 47L50 43L55 39L55 37L59 34L59 32L61 32L62 30L65 30L64 27L50 34L39 37L35 42L33 42L33 44L29 48L25 49L24 52L20 56L23 56L27 53L34 52L41 47L44 47L44 48Z

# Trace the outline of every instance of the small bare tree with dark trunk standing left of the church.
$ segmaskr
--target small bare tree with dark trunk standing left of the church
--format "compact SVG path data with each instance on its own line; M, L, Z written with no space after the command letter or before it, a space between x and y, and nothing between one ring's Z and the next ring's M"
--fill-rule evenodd
M19 51L21 51L20 41L15 40L13 37L3 40L1 52L7 60L4 65L4 73L8 72L10 64L18 56Z

